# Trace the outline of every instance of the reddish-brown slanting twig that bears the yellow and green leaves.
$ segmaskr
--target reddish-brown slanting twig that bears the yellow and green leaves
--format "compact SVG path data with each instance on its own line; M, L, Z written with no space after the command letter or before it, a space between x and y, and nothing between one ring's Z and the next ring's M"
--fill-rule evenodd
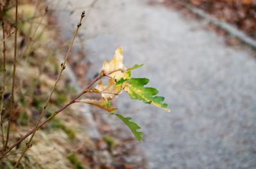
M78 99L80 96L82 96L83 94L85 94L86 92L90 91L90 87L92 87L93 84L95 84L95 82L97 82L100 78L105 77L106 75L109 75L111 73L115 73L116 71L120 71L120 70L115 70L115 71L110 71L108 73L100 73L99 76L97 76L96 78L94 78L92 80L92 82L90 84L88 84L84 90L82 92L80 92L79 94L77 94L77 96L72 99L72 101L70 101L69 103L67 103L64 107L60 108L59 110L57 110L56 112L54 112L54 114L52 114L50 117L48 117L44 122L42 122L40 125L38 125L37 129L42 128L42 126L44 126L47 122L51 121L51 119L53 117L55 117L56 115L58 115L62 110L64 110L65 108L67 108L68 106L72 105L72 103L76 103L76 99ZM11 145L6 151L3 152L3 154L0 156L0 160L4 158L4 156L6 156L6 154L8 154L8 152L12 151L12 149L14 147L16 147L17 145L19 145L23 140L25 140L26 138L28 138L28 136L30 136L33 132L35 131L35 129L31 129L31 131L29 131L26 135L22 136L19 140L17 140L17 142L13 143L13 145Z

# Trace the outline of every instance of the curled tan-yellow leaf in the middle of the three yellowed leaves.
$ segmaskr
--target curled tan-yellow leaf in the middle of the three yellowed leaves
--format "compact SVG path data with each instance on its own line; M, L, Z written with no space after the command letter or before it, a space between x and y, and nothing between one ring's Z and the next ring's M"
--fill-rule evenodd
M95 87L99 92L101 92L102 98L109 100L114 99L122 91L121 85L116 85L115 79L110 78L108 85L103 85L102 80L99 81L98 85Z

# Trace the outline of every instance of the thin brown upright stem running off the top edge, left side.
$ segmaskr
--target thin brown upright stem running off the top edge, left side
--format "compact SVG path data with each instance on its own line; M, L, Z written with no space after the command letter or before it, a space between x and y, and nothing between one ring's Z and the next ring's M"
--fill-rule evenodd
M16 56L17 56L17 31L18 31L18 0L15 1L15 36L14 36L14 56L13 56L13 75L12 75L12 92L11 92L11 99L10 99L10 115L8 118L8 128L6 134L6 142L4 145L4 150L6 150L9 141L10 135L10 126L12 122L12 113L13 113L13 104L14 104L14 85L15 85L15 72L16 72Z

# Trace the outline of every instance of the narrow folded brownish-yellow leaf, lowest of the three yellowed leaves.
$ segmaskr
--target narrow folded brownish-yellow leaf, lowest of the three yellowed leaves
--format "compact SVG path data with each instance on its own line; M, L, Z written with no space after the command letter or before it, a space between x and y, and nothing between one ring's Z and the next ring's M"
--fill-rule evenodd
M104 110L107 110L109 113L114 112L117 109L116 107L111 107L111 103L109 103L109 101L105 100L104 98L101 98L100 100L81 99L79 102L87 103L87 104L102 108Z

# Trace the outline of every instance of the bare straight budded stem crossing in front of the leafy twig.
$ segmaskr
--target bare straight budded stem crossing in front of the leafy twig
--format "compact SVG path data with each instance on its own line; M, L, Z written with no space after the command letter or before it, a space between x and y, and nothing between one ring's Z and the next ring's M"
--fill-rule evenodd
M44 115L44 113L45 113L45 110L46 110L46 108L47 108L47 106L48 106L48 103L49 103L51 97L52 97L52 94L53 94L53 92L54 92L54 90L55 90L55 88L56 88L56 86L57 86L57 84L58 84L58 82L59 82L59 80L60 80L61 74L62 74L63 70L65 70L65 64L66 64L66 62L67 62L68 56L70 55L70 50L71 50L71 48L72 48L72 46L73 46L73 43L74 43L74 40L75 40L75 38L76 38L76 36L77 36L77 33L78 33L78 31L79 31L79 28L80 28L81 25L82 25L81 22L82 22L84 16L85 16L85 11L82 12L81 18L80 18L80 20L79 20L79 22L78 22L78 24L77 24L77 29L76 29L76 31L75 31L75 33L74 33L74 36L73 36L73 38L72 38L72 41L71 41L69 47L68 47L67 54L65 55L64 62L61 63L61 71L60 71L58 77L56 78L56 81L55 81L55 83L54 83L54 86L52 87L52 91L51 91L49 97L47 98L47 101L45 102L44 108L42 109L42 112L41 112L41 114L40 114L40 117L38 118L38 121L36 122L35 128L33 129L33 133L32 133L32 135L31 135L29 141L26 143L26 147L25 147L24 151L22 152L20 158L18 159L17 163L16 163L15 166L13 167L13 169L17 168L17 166L19 165L20 160L21 160L22 157L26 154L26 151L28 151L29 147L31 147L31 142L32 142L32 140L33 140L33 138L34 138L34 136L35 136L36 130L38 130L40 121L41 121L41 119L42 119L42 117L43 117L43 115ZM83 93L82 93L82 94L83 94ZM81 94L81 95L82 95L82 94ZM80 95L80 96L81 96L81 95ZM72 104L72 103L70 103L70 104ZM69 104L69 105L70 105L70 104ZM67 105L67 107L68 107L68 105ZM63 109L64 109L64 108L63 108ZM63 110L63 109L62 109L62 110ZM62 111L62 110L61 110L61 111ZM50 119L50 120L51 120L51 119Z

